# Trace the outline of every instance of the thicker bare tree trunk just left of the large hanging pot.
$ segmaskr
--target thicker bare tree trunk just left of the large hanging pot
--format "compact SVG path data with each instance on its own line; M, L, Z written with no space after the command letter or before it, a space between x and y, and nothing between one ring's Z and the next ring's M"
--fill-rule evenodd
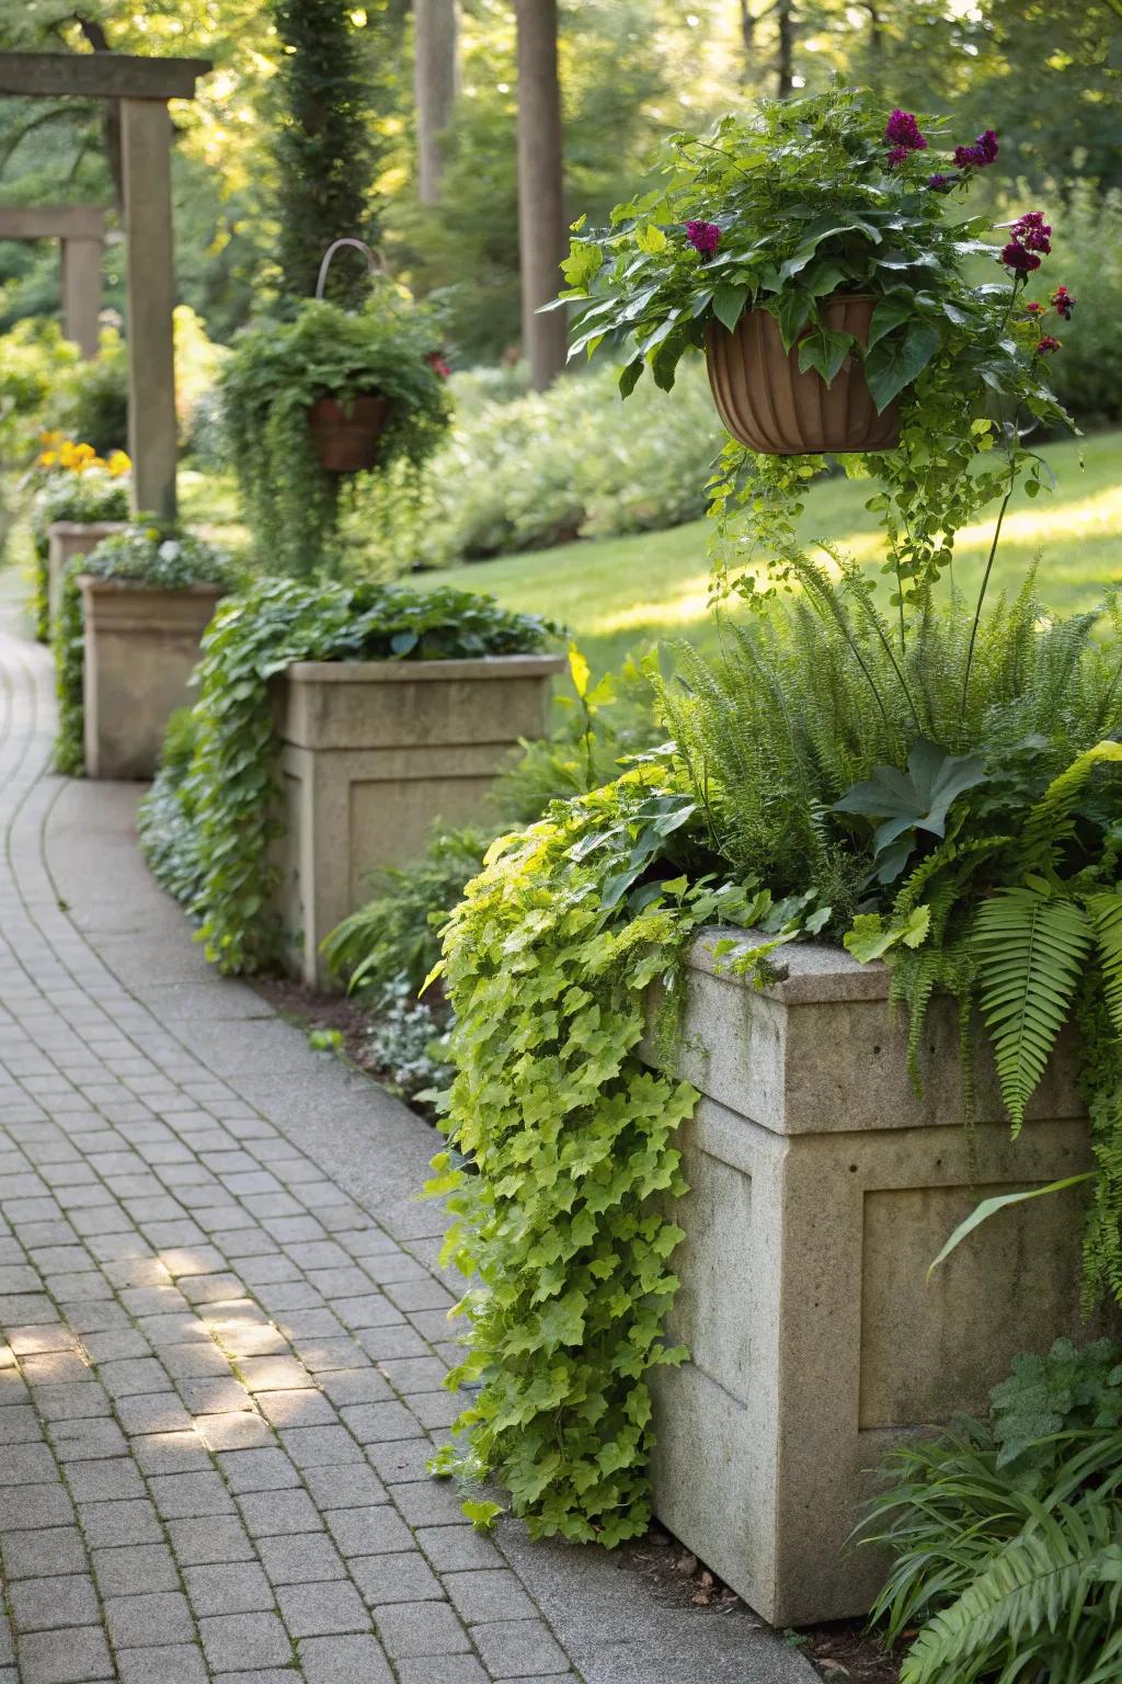
M521 254L521 349L542 392L565 367L565 313L542 305L557 296L569 249L557 74L557 0L515 0L518 19L518 246Z

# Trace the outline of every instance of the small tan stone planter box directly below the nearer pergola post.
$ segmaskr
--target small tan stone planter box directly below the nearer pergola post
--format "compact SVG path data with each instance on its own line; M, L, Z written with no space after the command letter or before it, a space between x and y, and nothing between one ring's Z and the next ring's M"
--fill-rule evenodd
M79 578L86 620L86 776L150 778L170 716L193 701L217 584L167 591L133 579Z

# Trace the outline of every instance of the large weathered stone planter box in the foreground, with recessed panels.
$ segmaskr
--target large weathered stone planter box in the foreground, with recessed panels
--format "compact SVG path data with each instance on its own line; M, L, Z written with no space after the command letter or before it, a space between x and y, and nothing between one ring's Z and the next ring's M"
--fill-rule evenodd
M789 946L757 992L718 973L712 940L690 958L680 1074L701 1101L671 1207L668 1332L691 1361L653 1374L654 1509L774 1625L834 1620L883 1578L876 1551L846 1548L881 1455L982 1415L1018 1351L1119 1329L1080 1319L1082 1189L1006 1209L925 1280L979 1197L1090 1167L1075 1047L1016 1142L979 1059L971 1147L950 1002L930 1012L920 1101L883 965Z

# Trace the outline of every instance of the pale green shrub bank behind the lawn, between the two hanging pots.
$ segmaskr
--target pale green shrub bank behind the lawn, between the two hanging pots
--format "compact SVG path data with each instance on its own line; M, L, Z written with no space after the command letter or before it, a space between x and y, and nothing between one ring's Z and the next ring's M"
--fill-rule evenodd
M725 434L700 362L683 370L673 411L641 392L626 418L611 370L513 401L479 401L469 379L453 382L454 424L424 473L419 517L390 525L390 542L417 564L659 530L705 514Z

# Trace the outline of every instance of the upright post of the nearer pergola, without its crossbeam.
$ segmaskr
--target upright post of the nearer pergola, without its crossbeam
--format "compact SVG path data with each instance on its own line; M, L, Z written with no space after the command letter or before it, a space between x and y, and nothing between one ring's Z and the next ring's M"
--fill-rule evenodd
M128 237L128 448L133 507L173 520L175 352L172 121L163 99L121 99Z

